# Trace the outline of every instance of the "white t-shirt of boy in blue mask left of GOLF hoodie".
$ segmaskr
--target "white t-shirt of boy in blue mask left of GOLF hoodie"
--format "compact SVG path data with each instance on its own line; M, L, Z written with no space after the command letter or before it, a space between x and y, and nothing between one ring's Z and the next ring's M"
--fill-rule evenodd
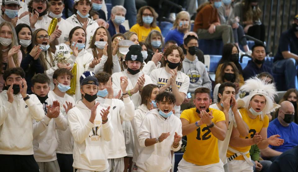
M55 94L53 91L50 91L48 93L48 97L50 97L52 100L57 100L60 103L60 115L64 115L67 119L67 114L65 112L65 109L63 105L66 105L66 102L71 102L73 106L75 106L76 102L75 100L65 94L64 97L59 97L57 94ZM70 133L69 127L65 131L62 131L60 129L56 129L56 139L58 142L58 147L56 149L56 153L62 153L62 154L72 154L73 149L73 138Z

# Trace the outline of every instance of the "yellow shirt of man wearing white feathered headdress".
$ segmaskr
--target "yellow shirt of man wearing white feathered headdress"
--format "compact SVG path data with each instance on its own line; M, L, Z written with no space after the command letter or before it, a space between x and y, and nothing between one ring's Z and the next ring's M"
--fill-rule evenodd
M243 121L248 125L249 128L249 134L246 137L243 136L239 136L240 138L253 138L255 133L259 133L261 131L262 128L266 128L269 125L269 118L267 115L264 116L264 120L261 120L260 117L256 117L255 119L251 119L248 116L248 112L245 108L241 108L239 109L240 114L242 116ZM247 152L250 150L250 146L245 146L245 147L232 147L231 145L229 145L229 147L239 151L239 152ZM227 151L227 157L230 157L232 155L234 155L235 153L231 152L231 151ZM246 154L247 157L250 157L250 153L248 152ZM244 157L238 156L235 158L235 160L245 160Z

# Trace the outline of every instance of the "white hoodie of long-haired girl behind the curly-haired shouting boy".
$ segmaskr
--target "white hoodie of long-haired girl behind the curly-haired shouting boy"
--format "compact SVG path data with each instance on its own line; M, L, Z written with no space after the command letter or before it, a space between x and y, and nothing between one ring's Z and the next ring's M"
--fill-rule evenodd
M144 120L145 115L146 115L146 113L148 111L149 111L149 109L144 104L141 104L135 110L135 117L131 121L132 128L134 129L134 138L135 138L135 140L138 140L138 135L137 135L138 134L138 131L139 131L140 126L142 124L142 121ZM140 143L139 142L135 142L135 145L134 145L134 155L133 155L133 158L132 158L132 162L136 162L137 161L137 159L139 157L139 154L140 154L140 149L141 149Z

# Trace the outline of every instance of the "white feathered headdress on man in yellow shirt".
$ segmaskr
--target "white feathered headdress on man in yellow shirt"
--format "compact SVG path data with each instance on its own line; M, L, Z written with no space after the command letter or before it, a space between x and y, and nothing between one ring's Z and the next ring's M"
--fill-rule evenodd
M243 97L242 99L237 99L239 108L244 107L248 109L250 101L255 95L262 95L265 97L266 105L263 109L263 114L260 115L262 120L266 114L280 107L280 105L273 103L274 96L277 95L275 85L266 84L265 80L260 80L257 77L247 79L245 84L240 88L240 91L247 92L249 95Z

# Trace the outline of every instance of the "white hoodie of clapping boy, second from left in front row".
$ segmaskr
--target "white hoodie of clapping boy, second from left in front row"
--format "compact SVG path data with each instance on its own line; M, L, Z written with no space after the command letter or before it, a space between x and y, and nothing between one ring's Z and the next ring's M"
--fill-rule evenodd
M48 105L53 105L53 101L56 100L56 98L53 97L52 92L53 91L48 94L48 99L46 100ZM44 119L39 122L34 120L33 149L36 162L50 162L57 160L56 149L58 143L56 139L56 129L63 131L67 129L67 119L61 112L60 115L53 120L46 115L44 115Z

